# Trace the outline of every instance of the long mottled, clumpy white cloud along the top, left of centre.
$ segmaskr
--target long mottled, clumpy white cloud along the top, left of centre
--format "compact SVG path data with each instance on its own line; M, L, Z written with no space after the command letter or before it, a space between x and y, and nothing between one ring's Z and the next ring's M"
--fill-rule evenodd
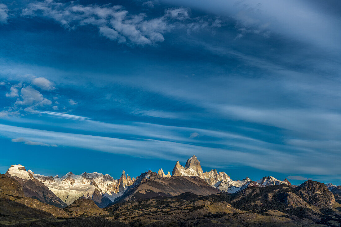
M188 27L194 30L206 28L210 23L214 27L214 23L207 22L206 17L190 18L189 10L182 7L166 9L163 16L148 18L145 13L131 14L121 5L85 6L76 2L45 0L29 3L21 15L50 18L66 29L91 25L98 29L100 35L110 40L141 46L163 42L163 34L173 28Z

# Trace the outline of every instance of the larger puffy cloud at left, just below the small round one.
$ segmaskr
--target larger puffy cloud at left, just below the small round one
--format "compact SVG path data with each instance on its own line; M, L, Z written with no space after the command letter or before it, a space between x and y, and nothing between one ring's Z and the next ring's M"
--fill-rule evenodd
M45 105L51 105L52 102L46 98L43 97L43 95L32 88L31 86L27 86L21 89L20 92L21 100L17 100L15 102L15 105L21 105L21 106L29 106L32 109L37 106L45 106Z

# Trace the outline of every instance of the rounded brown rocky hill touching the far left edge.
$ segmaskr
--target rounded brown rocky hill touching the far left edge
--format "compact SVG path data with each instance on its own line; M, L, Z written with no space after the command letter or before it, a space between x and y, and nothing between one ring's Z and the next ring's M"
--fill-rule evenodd
M0 198L15 200L24 196L23 187L16 180L0 173Z

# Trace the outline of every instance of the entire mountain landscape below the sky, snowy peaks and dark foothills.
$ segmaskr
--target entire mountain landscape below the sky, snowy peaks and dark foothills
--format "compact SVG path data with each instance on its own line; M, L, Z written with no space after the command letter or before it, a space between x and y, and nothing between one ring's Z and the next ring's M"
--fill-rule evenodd
M341 186L232 180L193 155L167 174L44 176L12 165L0 174L4 226L340 226Z

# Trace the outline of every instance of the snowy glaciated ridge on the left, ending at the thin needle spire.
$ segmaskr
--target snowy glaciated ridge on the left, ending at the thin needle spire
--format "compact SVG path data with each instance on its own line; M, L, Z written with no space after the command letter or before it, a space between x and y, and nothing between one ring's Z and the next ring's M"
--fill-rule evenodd
M29 180L38 180L42 182L47 191L52 192L67 205L78 198L87 198L92 199L100 207L105 207L114 201L135 182L135 178L125 177L124 170L118 180L108 174L103 175L98 172L84 172L81 175L68 172L61 178L58 176L49 177L35 174L31 170L26 171L23 165L12 165L6 171L6 175L14 178L23 186ZM30 185L36 187L38 184L31 183Z

